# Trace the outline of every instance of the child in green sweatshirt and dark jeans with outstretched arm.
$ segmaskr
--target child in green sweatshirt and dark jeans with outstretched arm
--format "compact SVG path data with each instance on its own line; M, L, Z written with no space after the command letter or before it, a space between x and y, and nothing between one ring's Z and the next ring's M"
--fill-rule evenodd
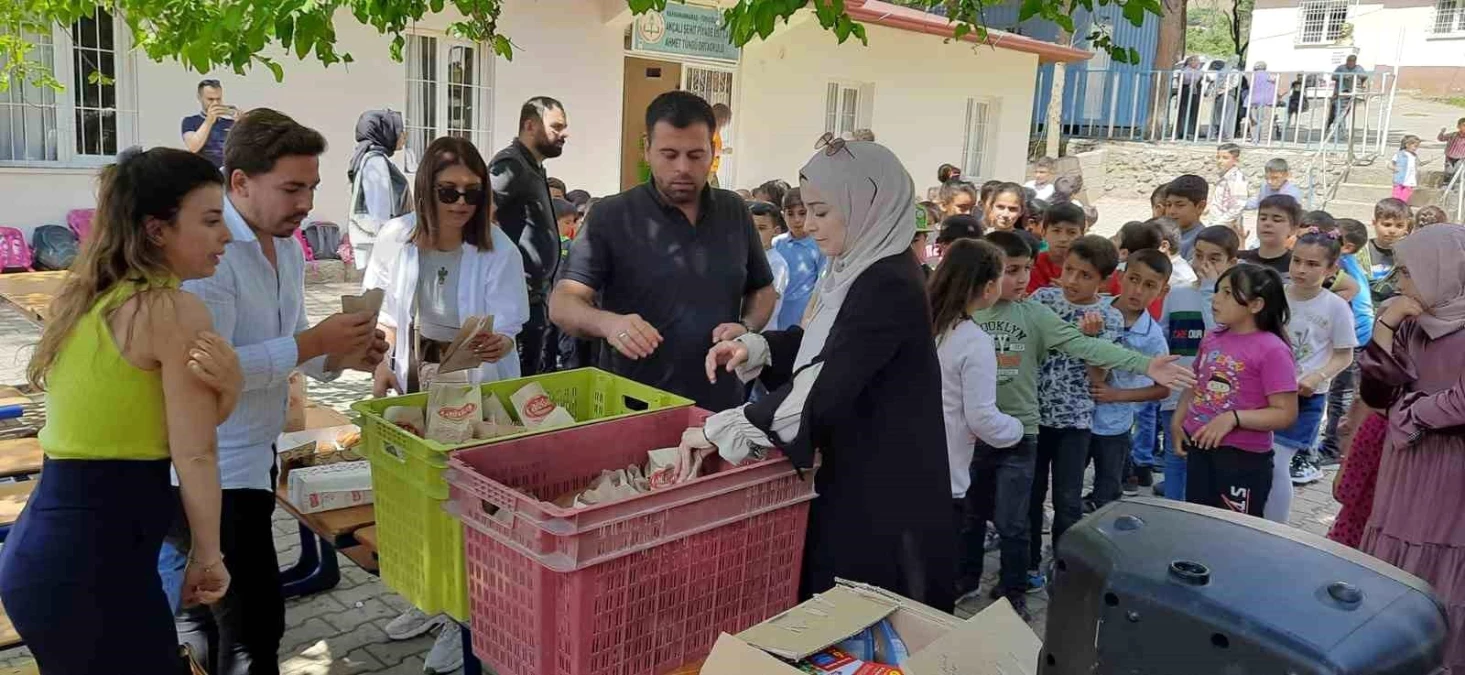
M1119 369L1150 376L1156 384L1190 387L1194 375L1176 366L1173 356L1149 357L1080 332L1052 309L1024 300L1033 271L1033 250L1021 237L993 231L987 242L1002 249L1002 299L971 319L992 335L998 359L998 409L1023 422L1023 441L1011 448L977 444L971 464L971 489L961 532L961 575L970 586L982 578L986 521L998 527L1002 540L1002 575L992 596L1006 596L1021 614L1026 609L1030 567L1028 502L1037 448L1037 379L1050 350L1083 359L1103 369ZM1037 567L1036 561L1031 567ZM974 590L974 586L960 590Z

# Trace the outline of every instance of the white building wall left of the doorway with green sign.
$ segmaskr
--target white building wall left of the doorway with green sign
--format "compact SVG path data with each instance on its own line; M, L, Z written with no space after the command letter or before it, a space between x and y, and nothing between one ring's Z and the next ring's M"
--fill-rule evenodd
M583 16L585 20L565 20ZM448 18L437 16L419 28L441 29ZM548 163L549 173L574 187L602 195L618 186L621 119L621 34L601 22L590 0L513 0L504 9L502 31L516 45L513 63L494 60L495 91L492 143L479 148L485 158L517 132L519 105L532 95L560 98L570 113L570 143L564 157ZM406 64L388 54L388 38L341 12L335 20L337 50L350 51L355 63L331 67L314 59L281 60L284 82L267 69L248 75L214 72L226 101L242 108L272 107L325 135L330 149L321 158L321 189L315 217L344 224L350 186L346 163L355 148L356 117L371 108L406 110ZM573 47L571 47L573 45ZM133 142L144 146L182 146L179 122L198 111L195 85L205 75L173 61L136 60L136 127ZM125 105L119 102L119 105ZM401 160L401 154L397 155ZM0 225L29 228L63 224L66 211L94 204L95 168L0 167Z

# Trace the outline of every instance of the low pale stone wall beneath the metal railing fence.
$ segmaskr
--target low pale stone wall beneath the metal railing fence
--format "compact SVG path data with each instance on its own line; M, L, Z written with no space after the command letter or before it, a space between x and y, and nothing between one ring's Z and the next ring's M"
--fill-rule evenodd
M1162 183L1176 176L1193 173L1209 182L1216 180L1216 149L1212 146L1178 146L1140 142L1094 142L1074 139L1069 152L1078 157L1084 170L1084 187L1091 199L1113 196L1121 199L1149 199ZM1279 157L1292 170L1292 182L1307 192L1307 165L1311 152L1242 149L1241 170L1251 183L1253 192L1260 190L1266 177L1263 165ZM1342 176L1343 161L1338 158L1327 167L1327 182L1332 184ZM1316 179L1321 182L1321 176ZM1304 204L1305 205L1305 204Z

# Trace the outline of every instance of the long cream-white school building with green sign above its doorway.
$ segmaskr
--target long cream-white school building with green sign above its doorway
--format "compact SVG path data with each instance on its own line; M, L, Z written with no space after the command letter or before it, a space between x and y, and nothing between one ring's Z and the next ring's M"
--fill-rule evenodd
M880 0L847 7L866 22L867 47L837 44L803 13L735 50L696 40L724 35L712 9L672 4L637 20L623 0L510 0L500 28L514 42L513 61L447 38L448 19L435 18L412 31L404 63L390 59L388 38L343 13L337 48L355 57L349 66L283 57L283 83L262 67L208 78L221 81L229 104L272 107L325 135L314 217L344 223L346 161L356 117L371 108L404 111L409 151L459 133L488 157L514 136L526 98L555 97L568 113L570 141L549 173L607 195L640 180L646 102L684 88L734 110L724 186L794 182L825 130L869 127L924 187L942 163L976 179L1021 179L1039 61L1088 57L998 31L989 44L946 42L943 18ZM179 124L198 111L201 79L130 51L126 25L105 15L57 29L41 45L37 53L54 63L66 89L15 82L0 94L0 225L25 231L91 206L95 170L119 149L182 146ZM88 82L88 72L75 72L78 60L114 83Z

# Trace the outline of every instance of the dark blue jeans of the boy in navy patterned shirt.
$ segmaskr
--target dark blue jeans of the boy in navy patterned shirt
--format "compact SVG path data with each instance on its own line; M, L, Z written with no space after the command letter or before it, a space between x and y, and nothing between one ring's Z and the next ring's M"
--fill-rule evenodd
M1047 479L1053 479L1053 551L1058 540L1074 523L1084 517L1084 469L1088 466L1088 429L1037 430L1037 463L1033 467L1033 498L1027 505L1033 539L1028 542L1028 565L1043 559L1043 499Z

